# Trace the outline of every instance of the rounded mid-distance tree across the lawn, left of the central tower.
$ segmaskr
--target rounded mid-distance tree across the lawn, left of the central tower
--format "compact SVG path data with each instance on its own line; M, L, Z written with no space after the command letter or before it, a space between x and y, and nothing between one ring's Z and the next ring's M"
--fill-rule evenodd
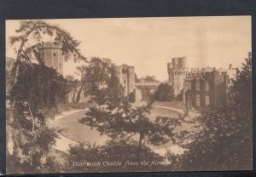
M109 106L117 106L123 100L123 88L111 62L92 57L90 65L84 67L84 73L84 93L90 94L98 105L108 102Z

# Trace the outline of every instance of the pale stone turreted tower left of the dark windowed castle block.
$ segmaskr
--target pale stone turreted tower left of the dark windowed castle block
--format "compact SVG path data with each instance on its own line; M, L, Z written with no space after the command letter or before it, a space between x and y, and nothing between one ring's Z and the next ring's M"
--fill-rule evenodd
M172 63L167 63L169 83L174 90L174 95L180 94L183 90L183 82L189 73L186 57L172 58Z

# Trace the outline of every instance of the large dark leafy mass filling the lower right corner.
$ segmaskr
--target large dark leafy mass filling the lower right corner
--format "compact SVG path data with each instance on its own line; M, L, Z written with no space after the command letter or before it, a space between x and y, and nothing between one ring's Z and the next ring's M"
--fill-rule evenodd
M183 145L183 170L252 168L252 59L248 55L230 88L230 101L209 106L198 120L201 131Z

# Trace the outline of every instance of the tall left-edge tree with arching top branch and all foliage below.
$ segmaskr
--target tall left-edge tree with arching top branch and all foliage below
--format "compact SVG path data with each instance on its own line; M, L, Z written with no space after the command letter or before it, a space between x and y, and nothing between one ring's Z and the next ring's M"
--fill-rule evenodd
M45 118L53 116L55 106L65 101L67 83L54 70L32 62L42 64L38 51L46 36L61 45L66 60L86 58L78 49L79 41L44 20L20 20L16 33L9 37L17 55L9 71L8 169L15 168L10 171L19 173L54 172L60 166L49 156L49 148L55 144L57 132L48 127Z

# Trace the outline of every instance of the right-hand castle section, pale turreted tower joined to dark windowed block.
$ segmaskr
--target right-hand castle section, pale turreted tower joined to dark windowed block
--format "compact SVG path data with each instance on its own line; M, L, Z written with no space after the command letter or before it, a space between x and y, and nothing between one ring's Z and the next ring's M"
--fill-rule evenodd
M182 94L187 108L196 110L226 101L232 84L230 79L236 77L236 68L231 64L228 69L189 68L185 57L172 58L172 63L167 64L167 71L174 95Z

